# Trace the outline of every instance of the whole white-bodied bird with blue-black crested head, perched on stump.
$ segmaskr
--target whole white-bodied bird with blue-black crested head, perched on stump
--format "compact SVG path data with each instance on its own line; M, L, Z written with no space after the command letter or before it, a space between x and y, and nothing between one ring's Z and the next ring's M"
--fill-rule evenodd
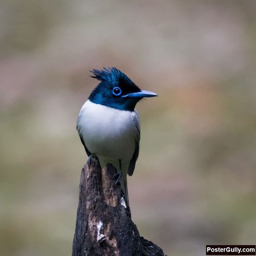
M97 156L101 167L111 163L118 172L129 206L127 174L134 173L139 156L140 119L135 105L142 98L158 96L141 90L116 67L93 69L90 77L100 81L82 106L76 130L85 147L87 163Z

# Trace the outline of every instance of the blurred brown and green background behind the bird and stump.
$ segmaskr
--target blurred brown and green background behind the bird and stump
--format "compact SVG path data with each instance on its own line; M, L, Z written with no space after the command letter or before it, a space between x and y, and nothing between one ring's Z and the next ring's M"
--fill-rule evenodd
M103 66L159 96L137 104L140 234L170 256L255 244L255 0L1 0L0 58L1 256L71 255Z

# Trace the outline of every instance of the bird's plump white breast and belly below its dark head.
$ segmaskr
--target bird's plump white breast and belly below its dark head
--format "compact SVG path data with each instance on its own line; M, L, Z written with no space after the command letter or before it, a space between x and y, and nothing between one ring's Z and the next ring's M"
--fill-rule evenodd
M77 120L77 131L102 167L112 163L118 169L121 159L122 169L127 171L140 137L136 110L118 110L87 100Z

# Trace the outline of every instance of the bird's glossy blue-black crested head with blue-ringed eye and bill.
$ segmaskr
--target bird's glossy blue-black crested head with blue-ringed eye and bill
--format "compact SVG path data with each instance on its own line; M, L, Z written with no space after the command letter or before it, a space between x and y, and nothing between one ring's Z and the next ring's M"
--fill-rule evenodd
M115 67L94 69L91 72L94 74L91 77L101 81L89 97L89 100L96 104L133 111L140 99L158 96L156 93L141 90Z

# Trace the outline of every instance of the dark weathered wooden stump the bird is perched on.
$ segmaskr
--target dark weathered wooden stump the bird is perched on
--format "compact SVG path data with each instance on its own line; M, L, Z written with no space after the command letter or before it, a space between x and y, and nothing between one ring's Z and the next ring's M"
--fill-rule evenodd
M97 158L81 173L72 256L164 256L161 248L140 237L123 199L116 169L101 170Z

